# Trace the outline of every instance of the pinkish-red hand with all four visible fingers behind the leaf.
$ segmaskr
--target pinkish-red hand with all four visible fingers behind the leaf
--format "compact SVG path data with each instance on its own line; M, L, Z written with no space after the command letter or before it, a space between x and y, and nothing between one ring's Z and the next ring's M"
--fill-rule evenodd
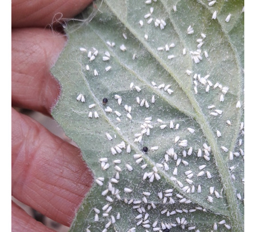
M92 174L77 147L16 107L51 116L60 85L50 68L67 42L53 18L72 18L91 2L12 1L12 196L66 226L90 190ZM54 230L12 202L12 231Z

